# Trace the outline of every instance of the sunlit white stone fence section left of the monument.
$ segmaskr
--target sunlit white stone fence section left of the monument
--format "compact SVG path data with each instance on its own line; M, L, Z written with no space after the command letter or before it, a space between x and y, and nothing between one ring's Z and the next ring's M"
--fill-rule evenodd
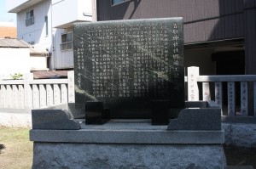
M37 109L74 103L74 75L67 79L33 80L32 74L24 80L0 81L0 108Z

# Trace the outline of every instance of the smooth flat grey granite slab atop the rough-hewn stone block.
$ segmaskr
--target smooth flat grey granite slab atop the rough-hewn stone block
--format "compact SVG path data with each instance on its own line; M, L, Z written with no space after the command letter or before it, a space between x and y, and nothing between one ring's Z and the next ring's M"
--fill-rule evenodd
M80 130L31 130L34 142L97 144L223 144L224 131L167 131L150 120L111 120L102 126L81 124Z

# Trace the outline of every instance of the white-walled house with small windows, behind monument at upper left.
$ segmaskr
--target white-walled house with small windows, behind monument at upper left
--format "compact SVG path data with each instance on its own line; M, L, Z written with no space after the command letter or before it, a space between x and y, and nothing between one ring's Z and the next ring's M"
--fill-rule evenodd
M73 23L93 21L95 0L12 0L18 38L49 51L49 69L73 68Z

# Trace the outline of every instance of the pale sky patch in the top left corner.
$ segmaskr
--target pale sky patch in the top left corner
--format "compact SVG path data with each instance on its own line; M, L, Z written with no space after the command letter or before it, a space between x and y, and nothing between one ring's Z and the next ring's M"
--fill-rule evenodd
M8 22L8 21L14 21L16 24L16 14L8 13L6 9L6 1L11 0L0 0L0 22Z

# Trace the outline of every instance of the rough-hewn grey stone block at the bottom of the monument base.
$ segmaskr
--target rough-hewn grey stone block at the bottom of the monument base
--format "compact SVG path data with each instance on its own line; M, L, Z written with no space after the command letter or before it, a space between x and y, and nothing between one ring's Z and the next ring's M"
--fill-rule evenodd
M222 145L34 143L32 168L224 169Z

